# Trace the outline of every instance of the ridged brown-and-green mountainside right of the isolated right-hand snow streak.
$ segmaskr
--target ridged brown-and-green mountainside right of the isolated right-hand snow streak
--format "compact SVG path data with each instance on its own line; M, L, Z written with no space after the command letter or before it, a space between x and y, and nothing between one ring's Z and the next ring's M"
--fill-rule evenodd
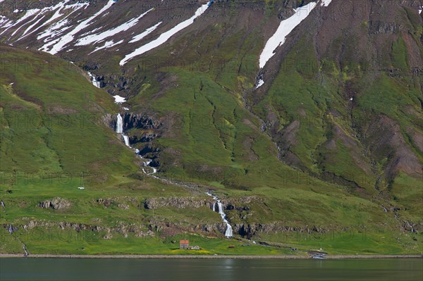
M333 1L313 11L248 95L283 161L409 208L421 202L423 159L422 17L413 3L367 1L342 13Z

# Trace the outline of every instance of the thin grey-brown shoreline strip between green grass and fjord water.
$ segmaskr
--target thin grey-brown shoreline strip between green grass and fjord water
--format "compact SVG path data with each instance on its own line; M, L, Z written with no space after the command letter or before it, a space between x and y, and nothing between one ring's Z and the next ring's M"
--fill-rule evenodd
M0 254L0 258L25 258L23 254ZM238 259L313 259L312 256L250 256L250 255L56 255L30 254L27 258L238 258ZM327 255L324 259L357 259L357 258L423 258L419 255Z

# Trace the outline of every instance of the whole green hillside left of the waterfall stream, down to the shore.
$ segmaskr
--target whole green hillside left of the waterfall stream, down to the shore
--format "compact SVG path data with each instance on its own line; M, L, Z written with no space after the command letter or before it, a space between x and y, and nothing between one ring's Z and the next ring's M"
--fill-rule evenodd
M164 252L163 227L161 235L195 226L219 233L204 192L143 175L142 159L114 132L116 118L107 122L118 106L80 68L6 45L0 59L1 252ZM161 200L172 208L154 211L167 206ZM157 249L125 249L134 241Z

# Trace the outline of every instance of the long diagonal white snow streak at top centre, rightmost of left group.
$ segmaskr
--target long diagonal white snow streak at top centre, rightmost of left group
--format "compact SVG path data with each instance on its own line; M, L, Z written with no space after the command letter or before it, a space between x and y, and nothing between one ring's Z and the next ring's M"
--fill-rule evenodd
M134 58L135 56L140 56L144 54L147 51L150 51L154 48L157 48L161 44L164 44L168 39L170 39L173 35L180 32L180 30L183 30L184 28L192 25L194 23L194 20L198 18L202 13L204 13L207 8L209 8L209 4L204 4L200 8L195 11L195 15L193 15L188 20L183 21L182 23L179 23L175 27L173 27L171 30L168 30L164 33L162 33L159 38L153 40L152 42L149 42L145 44L144 46L140 46L140 48L136 49L132 53L128 54L123 58L123 60L119 63L120 65L125 65L128 61L130 61L131 58Z

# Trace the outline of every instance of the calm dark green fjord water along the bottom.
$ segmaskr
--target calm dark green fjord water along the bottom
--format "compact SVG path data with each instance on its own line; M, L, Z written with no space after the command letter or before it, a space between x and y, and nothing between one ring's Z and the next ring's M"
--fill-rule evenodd
M0 258L0 280L423 280L423 259Z

